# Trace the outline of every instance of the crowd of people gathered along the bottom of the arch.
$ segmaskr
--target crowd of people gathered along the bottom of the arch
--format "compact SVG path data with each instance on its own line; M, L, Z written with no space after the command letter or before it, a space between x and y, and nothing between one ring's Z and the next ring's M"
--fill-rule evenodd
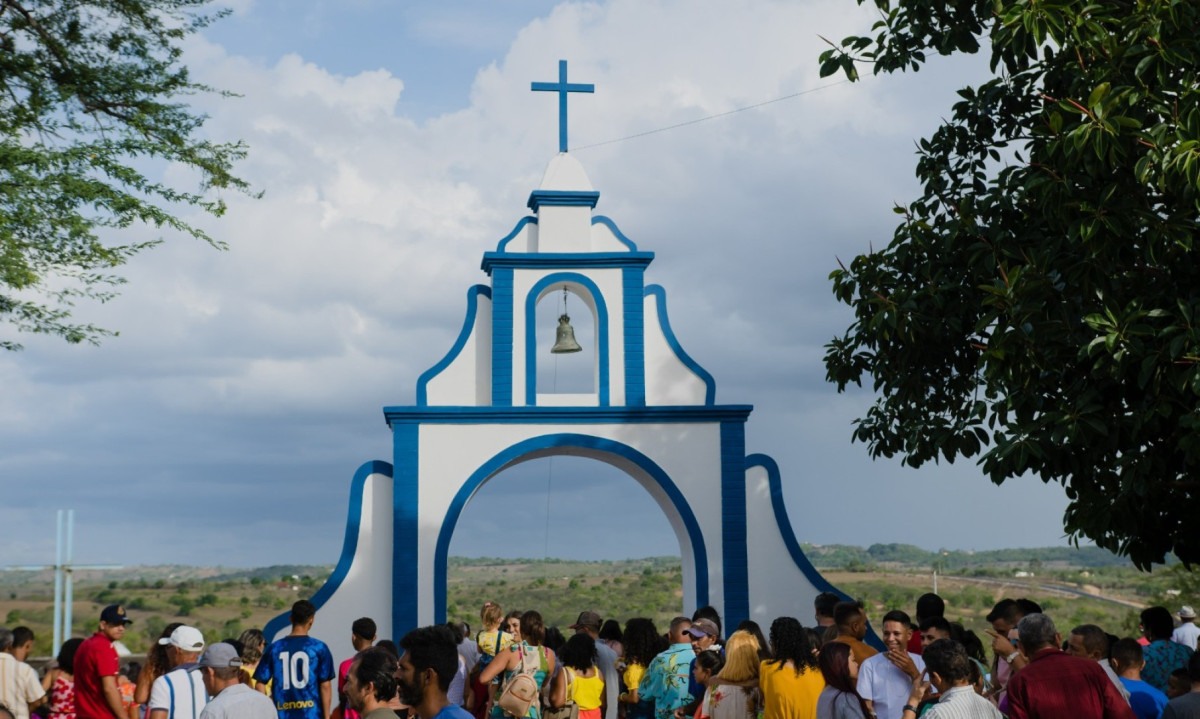
M130 618L113 605L41 677L25 664L32 633L0 628L0 719L1200 719L1192 607L1144 610L1140 637L1094 624L1064 637L1037 603L1003 599L986 639L936 594L913 609L883 613L869 640L866 609L832 593L811 625L778 617L766 633L749 619L726 633L701 607L662 630L584 611L564 634L488 601L478 631L422 627L398 646L360 618L354 655L335 664L300 600L272 642L172 624L122 670Z

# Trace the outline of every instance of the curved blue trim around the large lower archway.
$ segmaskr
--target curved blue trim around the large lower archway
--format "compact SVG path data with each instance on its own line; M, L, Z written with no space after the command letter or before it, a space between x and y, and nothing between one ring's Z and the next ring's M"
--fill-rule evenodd
M696 521L696 515L692 514L691 507L684 498L683 492L679 491L679 487L676 486L667 473L648 456L614 439L604 439L590 435L544 435L518 442L484 462L463 483L462 487L458 489L458 493L450 502L446 516L442 521L442 531L438 533L437 550L433 556L433 622L436 624L446 621L446 557L450 552L450 539L454 537L455 526L458 523L458 517L462 516L462 510L472 495L488 478L514 461L539 450L564 447L593 449L629 460L658 483L662 491L666 492L671 504L679 513L684 528L688 531L688 538L691 540L692 558L696 563L696 606L708 604L708 551L704 547L704 535L701 533L700 522Z

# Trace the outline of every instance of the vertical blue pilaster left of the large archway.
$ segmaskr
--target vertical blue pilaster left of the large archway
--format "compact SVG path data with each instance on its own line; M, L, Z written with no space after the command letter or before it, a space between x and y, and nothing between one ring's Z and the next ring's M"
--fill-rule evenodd
M392 427L391 630L396 639L416 628L418 543L420 541L420 426Z

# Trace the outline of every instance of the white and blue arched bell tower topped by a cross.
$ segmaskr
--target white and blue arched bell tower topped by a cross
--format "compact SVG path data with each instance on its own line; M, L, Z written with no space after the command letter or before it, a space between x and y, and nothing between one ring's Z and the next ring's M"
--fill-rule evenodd
M349 655L356 617L373 617L380 637L445 622L463 508L499 472L554 455L611 465L654 498L679 540L684 613L712 604L727 627L804 621L818 592L836 592L800 551L778 466L746 454L752 407L716 402L714 378L671 330L666 290L646 282L654 253L596 214L600 193L566 152L568 94L593 86L568 83L560 61L558 82L533 90L558 92L559 152L529 194L530 214L484 252L488 282L467 290L458 337L418 378L416 403L384 407L391 462L355 474L342 557L313 597L314 634L335 655ZM538 326L536 307L564 288L575 313L592 316L581 343L594 382L541 393L538 364L551 355L539 354L539 332L554 328ZM286 616L266 628L286 631Z

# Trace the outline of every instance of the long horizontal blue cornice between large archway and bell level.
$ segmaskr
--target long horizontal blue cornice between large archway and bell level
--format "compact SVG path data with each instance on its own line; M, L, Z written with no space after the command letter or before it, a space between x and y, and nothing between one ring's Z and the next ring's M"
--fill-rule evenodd
M694 424L746 421L754 405L655 407L384 407L390 426L431 425L578 425Z

